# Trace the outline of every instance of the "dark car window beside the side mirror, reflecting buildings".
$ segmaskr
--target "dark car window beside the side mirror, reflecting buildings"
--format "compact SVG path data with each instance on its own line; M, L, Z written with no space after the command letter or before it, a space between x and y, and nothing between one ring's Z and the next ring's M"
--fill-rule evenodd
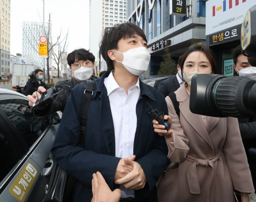
M30 148L40 137L46 124L37 119L32 112L28 101L22 99L0 100L0 109L10 119Z

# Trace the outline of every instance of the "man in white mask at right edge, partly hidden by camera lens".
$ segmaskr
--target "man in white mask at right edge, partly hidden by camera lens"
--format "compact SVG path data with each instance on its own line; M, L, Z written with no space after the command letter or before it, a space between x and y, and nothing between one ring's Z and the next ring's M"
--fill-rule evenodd
M252 67L246 56L242 54L241 45L237 46L233 52L234 70L239 76L245 76L256 80L256 67ZM255 156L252 152L256 152L256 122L250 117L239 118L239 129L244 144L244 148L248 157L250 170L256 170ZM250 152L251 151L251 152ZM255 155L255 154L254 154ZM252 172L252 181L256 186L256 172Z

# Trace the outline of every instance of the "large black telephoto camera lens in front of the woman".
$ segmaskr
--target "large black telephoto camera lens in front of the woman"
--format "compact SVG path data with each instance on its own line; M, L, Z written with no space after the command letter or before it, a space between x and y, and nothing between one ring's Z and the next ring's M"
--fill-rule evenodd
M244 76L194 75L190 111L211 117L256 117L256 81Z

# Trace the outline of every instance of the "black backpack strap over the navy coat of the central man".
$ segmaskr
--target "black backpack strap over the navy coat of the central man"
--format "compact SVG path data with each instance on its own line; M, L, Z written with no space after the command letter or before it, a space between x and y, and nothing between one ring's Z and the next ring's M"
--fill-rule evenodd
M87 114L90 107L94 88L95 88L95 81L84 80L84 101L82 104L82 109L80 114L80 143L81 144L84 141Z

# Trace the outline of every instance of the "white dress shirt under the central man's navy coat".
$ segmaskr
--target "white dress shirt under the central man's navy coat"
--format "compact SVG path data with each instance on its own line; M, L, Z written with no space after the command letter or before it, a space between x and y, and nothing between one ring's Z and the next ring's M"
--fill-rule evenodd
M140 96L139 79L128 90L128 95L120 88L113 77L113 71L104 79L108 91L110 108L115 129L116 157L133 156L134 137L137 128L136 104ZM127 190L120 185L121 198L134 198L134 190Z

